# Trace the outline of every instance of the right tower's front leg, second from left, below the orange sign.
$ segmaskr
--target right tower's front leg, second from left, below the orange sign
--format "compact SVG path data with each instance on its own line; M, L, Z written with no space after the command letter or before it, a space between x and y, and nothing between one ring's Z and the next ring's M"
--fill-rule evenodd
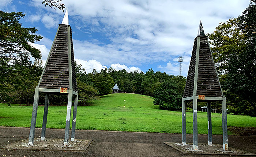
M197 144L197 99L193 96L193 149L198 149Z

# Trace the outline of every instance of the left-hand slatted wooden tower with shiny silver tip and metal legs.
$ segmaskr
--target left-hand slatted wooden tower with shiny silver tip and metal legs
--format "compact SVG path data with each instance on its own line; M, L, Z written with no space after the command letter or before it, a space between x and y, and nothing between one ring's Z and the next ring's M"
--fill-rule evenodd
M69 124L71 115L72 97L74 100L74 113L72 122L71 141L75 139L76 110L78 102L78 90L76 85L75 60L72 41L72 29L68 22L68 9L65 12L63 21L59 24L52 47L41 78L35 88L33 112L30 126L29 145L34 143L35 123L37 118L37 107L39 92L45 93L45 109L41 132L41 140L45 140L45 130L48 114L49 95L66 94L68 95L67 117L65 128L64 146L68 144Z

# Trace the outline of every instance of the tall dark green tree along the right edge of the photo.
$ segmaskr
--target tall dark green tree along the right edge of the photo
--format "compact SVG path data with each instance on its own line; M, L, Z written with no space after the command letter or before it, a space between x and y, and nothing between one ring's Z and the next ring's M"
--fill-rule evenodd
M238 17L239 28L245 35L245 49L231 56L225 86L254 108L256 114L256 0Z

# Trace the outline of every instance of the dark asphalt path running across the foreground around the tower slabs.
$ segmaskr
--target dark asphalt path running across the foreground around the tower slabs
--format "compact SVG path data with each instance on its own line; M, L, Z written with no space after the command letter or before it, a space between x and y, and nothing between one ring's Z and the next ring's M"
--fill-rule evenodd
M64 138L64 129L46 129L46 138ZM39 138L41 129L35 130L35 137ZM14 128L0 126L0 146L29 138L29 128ZM29 150L0 150L0 157L92 157L92 156L188 156L163 144L163 142L181 142L181 134L112 132L96 130L76 130L76 138L92 139L86 152L64 151L29 151ZM229 146L248 152L256 153L256 136L228 136ZM187 135L187 142L193 142L193 136ZM199 143L207 143L207 135L198 136ZM222 144L222 136L214 135L213 143ZM195 156L195 155L192 155ZM203 155L197 155L203 156Z

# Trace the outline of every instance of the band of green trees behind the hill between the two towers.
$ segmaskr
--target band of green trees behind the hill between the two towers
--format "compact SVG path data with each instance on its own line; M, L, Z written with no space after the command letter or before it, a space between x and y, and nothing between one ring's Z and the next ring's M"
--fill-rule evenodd
M112 93L114 84L117 84L121 92L144 94L154 97L154 104L163 109L179 109L183 96L186 78L183 76L168 75L166 72L154 72L148 69L146 73L127 72L125 69L116 71L112 67L97 72L86 73L81 65L76 65L78 92L85 96L83 102L95 98L96 94L105 95ZM87 88L86 90L84 90ZM92 92L95 94L93 96ZM98 90L98 93L96 92ZM90 96L93 97L90 97ZM88 98L86 100L86 98Z

